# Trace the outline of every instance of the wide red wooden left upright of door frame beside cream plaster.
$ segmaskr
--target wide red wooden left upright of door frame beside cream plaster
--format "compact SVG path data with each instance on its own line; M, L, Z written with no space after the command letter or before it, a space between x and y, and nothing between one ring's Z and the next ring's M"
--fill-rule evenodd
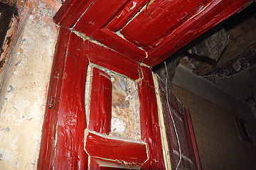
M76 41L77 38L70 37L69 29L60 27L38 169L87 169L87 154L83 149L85 96L81 95L85 94L85 86L81 85L85 84L88 60Z

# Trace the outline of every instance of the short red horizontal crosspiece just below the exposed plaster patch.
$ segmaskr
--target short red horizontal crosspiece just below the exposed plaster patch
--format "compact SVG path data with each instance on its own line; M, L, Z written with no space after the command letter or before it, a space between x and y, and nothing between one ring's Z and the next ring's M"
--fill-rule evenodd
M147 159L146 145L88 132L85 149L90 157L118 160L141 166Z

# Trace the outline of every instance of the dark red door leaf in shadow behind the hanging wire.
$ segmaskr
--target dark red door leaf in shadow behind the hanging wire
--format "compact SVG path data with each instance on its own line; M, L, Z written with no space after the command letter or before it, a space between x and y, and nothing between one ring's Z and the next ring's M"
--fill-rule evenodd
M166 135L171 157L171 167L172 169L176 169L176 166L178 166L178 162L180 160L179 156L181 154L181 163L178 166L179 168L201 169L188 109L186 109L181 102L178 101L174 94L171 94L171 91L168 91L168 101L166 101L165 84L160 78L158 81L161 91L164 123L166 125ZM168 106L167 102L169 102L170 107ZM171 120L171 117L173 120ZM179 147L181 147L181 153Z

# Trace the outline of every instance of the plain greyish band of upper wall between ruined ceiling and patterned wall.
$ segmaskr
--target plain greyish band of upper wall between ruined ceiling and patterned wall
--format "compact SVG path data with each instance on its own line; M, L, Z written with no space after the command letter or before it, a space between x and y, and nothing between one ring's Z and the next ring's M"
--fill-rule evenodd
M193 94L201 96L207 101L215 103L218 106L227 108L233 113L255 120L255 116L250 105L239 101L237 98L234 98L229 94L225 94L221 89L218 89L214 84L211 84L202 77L196 77L191 70L181 64L176 67L173 84L176 84L187 91L191 91Z

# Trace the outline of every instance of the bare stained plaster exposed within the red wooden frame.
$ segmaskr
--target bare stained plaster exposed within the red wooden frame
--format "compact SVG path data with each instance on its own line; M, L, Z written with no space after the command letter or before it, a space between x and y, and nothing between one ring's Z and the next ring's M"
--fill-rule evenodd
M87 69L87 81L85 90L85 107L87 121L89 116L90 91L92 79L92 67L102 69L111 77L112 81L112 119L110 135L127 137L133 140L141 140L139 96L137 84L134 80L124 77L95 64L90 64Z

